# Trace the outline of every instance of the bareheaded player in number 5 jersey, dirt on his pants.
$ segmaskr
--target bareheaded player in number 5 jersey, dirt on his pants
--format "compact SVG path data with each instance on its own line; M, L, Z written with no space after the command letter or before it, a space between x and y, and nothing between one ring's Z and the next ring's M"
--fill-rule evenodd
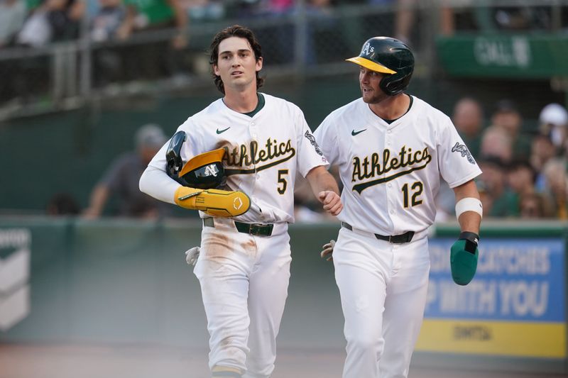
M226 28L214 36L210 50L214 81L224 97L178 128L170 148L164 146L148 165L140 187L163 201L204 210L194 272L207 315L212 377L269 377L290 277L288 223L294 221L295 174L306 177L332 215L342 210L342 203L302 111L257 92L263 84L258 76L263 57L251 30ZM185 166L178 176L200 167L204 155L221 150L227 190L180 186L166 174L166 152L176 150L172 145L183 138ZM205 170L218 171L214 165ZM236 211L243 203L249 211ZM219 208L232 217L219 216Z

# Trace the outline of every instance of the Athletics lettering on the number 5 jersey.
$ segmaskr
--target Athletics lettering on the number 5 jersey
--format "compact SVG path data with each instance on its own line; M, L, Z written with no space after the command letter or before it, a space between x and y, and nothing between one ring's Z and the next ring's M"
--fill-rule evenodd
M268 138L263 148L259 148L258 142L253 140L249 145L239 145L232 151L229 151L228 147L224 147L224 150L223 161L227 167L251 167L266 162L266 165L252 169L225 169L227 176L256 173L288 161L296 155L296 150L292 147L292 140L290 139L278 143L278 140Z

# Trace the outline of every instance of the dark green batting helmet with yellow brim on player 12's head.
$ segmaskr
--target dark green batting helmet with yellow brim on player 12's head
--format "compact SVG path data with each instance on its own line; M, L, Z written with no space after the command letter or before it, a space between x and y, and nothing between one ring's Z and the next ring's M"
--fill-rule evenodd
M395 96L408 88L414 71L414 55L405 43L390 37L375 37L367 40L358 57L347 59L367 70L386 74L379 87Z

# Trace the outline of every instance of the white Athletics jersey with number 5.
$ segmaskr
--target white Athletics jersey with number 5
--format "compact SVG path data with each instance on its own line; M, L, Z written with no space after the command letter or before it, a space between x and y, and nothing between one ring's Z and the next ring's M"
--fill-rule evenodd
M305 177L312 168L327 165L327 160L302 111L288 101L262 95L265 105L252 117L229 109L219 99L188 118L178 128L187 135L182 160L187 162L195 155L224 148L227 189L244 191L262 209L260 218L249 211L233 219L293 223L296 172ZM149 167L165 169L166 148L167 143Z

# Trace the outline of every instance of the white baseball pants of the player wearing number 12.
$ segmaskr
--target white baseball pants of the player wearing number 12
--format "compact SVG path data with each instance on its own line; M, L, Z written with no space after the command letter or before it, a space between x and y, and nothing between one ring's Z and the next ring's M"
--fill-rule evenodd
M426 303L427 238L391 244L342 228L333 262L345 317L343 377L408 377Z

